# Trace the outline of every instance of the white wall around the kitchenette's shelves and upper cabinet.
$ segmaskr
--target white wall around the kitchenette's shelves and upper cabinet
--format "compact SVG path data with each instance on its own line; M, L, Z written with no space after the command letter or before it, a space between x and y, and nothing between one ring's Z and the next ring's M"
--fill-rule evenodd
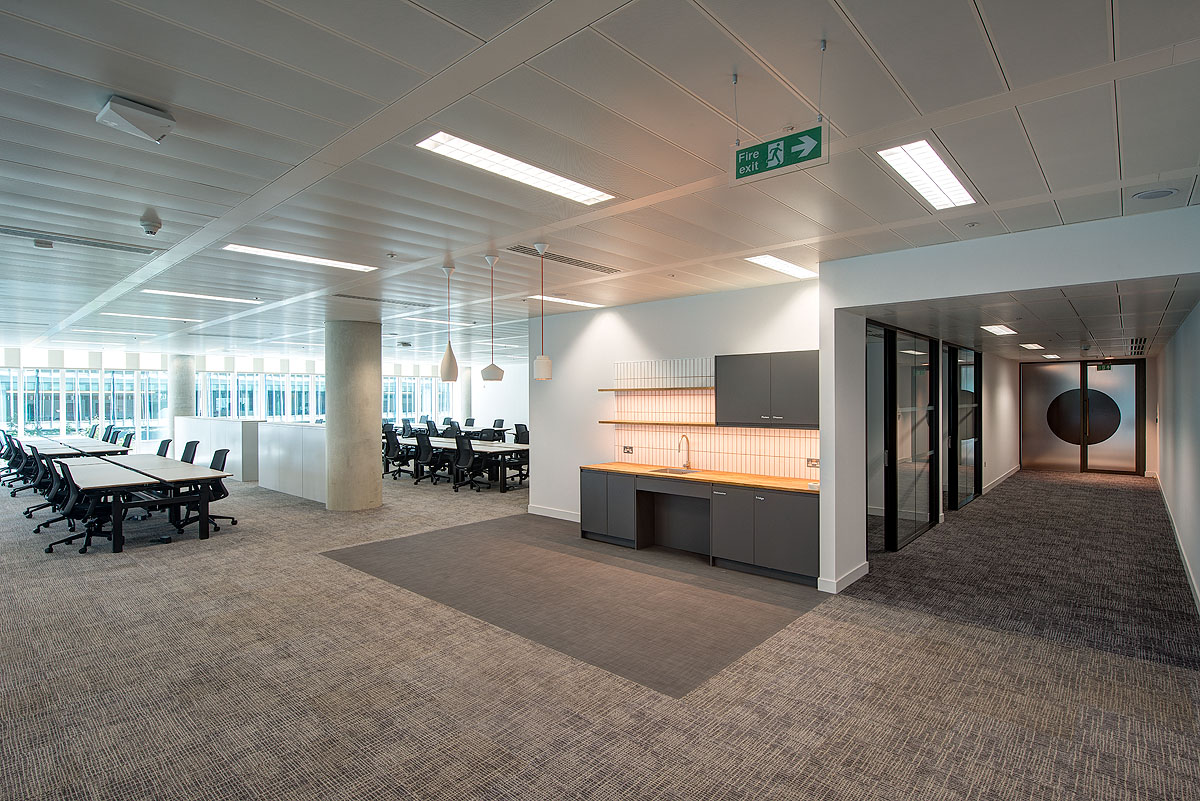
M816 347L816 281L546 318L554 378L529 383L529 511L578 520L580 465L612 460L613 428L596 421L613 399L596 390L612 386L614 362Z

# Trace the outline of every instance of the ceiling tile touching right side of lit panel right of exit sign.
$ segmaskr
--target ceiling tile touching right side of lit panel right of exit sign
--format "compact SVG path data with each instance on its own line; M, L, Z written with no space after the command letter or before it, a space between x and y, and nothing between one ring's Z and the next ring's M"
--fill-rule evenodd
M935 132L984 203L1044 194L1042 168L1013 109L943 126Z

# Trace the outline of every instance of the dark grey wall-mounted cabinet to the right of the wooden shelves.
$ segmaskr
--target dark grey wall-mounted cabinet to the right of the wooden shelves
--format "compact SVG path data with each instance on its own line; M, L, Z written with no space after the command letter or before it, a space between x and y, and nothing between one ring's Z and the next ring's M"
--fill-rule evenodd
M817 428L818 353L716 356L716 424Z

